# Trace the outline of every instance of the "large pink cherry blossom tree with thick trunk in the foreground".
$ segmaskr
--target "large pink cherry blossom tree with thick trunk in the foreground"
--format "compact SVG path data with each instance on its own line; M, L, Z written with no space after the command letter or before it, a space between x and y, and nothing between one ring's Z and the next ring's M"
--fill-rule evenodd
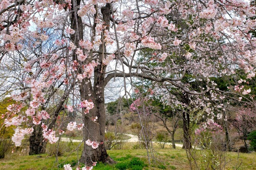
M126 97L130 95L126 81L132 82L132 77L156 82L152 90L162 101L183 108L186 128L190 105L204 107L208 117L216 117L209 98L232 93L235 100L244 98L254 105L251 90L239 82L224 92L209 79L235 75L238 68L247 79L255 76L255 40L250 34L254 16L255 7L243 0L2 0L0 61L27 46L38 49L25 61L24 88L13 95L20 104L9 106L5 115L6 125L17 127L13 141L18 146L24 135L36 136L33 127L38 125L36 132L56 142L59 129L54 120L63 109L77 109L84 124L80 162L113 163L103 144L104 87L115 77L124 79ZM139 55L142 49L150 59ZM194 88L193 79L204 87ZM45 103L54 89L65 93L49 115ZM183 100L166 94L168 89L179 91ZM64 107L69 96L80 103ZM25 105L29 107L23 113ZM50 117L52 121L47 121ZM76 125L72 122L68 128Z

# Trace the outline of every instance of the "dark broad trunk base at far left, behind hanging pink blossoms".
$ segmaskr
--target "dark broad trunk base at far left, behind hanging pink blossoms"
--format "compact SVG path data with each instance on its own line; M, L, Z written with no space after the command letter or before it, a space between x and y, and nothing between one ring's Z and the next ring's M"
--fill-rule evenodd
M34 131L29 138L29 155L43 154L46 150L46 142L43 142L41 124L33 128Z

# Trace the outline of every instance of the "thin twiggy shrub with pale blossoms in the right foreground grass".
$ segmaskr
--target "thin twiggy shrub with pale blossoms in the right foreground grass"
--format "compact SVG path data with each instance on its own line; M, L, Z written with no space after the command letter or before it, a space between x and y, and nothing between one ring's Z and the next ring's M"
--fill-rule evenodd
M226 156L222 127L209 119L195 130L194 138L194 148L189 151L192 169L222 169Z

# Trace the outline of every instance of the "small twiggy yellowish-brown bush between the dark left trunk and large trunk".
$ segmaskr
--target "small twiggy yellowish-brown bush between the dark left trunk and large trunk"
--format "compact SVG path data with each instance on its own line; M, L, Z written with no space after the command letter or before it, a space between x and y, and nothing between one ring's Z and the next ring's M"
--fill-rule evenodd
M48 143L46 147L46 153L48 153L49 156L62 156L65 152L68 152L68 150L69 147L67 142L56 142L54 144Z

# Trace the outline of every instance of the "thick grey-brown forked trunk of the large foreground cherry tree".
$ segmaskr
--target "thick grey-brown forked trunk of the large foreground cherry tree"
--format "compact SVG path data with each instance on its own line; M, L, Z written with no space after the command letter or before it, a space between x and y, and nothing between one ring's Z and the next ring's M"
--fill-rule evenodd
M77 6L79 7L80 2L77 1ZM77 8L79 10L79 8ZM110 4L107 3L105 7L101 8L103 20L105 22L106 30L109 30L110 25ZM76 12L76 18L78 20L78 31L79 31L79 40L82 40L82 18L80 18ZM73 18L73 19L72 19ZM95 16L96 18L96 16ZM74 16L71 17L71 19L74 21L74 27L76 22ZM71 23L72 23L71 20ZM74 29L74 28L73 28ZM74 29L76 30L76 29ZM108 164L114 163L114 160L112 160L107 152L104 145L105 140L105 124L106 124L106 114L105 114L105 101L104 101L104 88L105 88L105 82L104 78L105 75L103 74L106 71L106 66L102 64L103 58L106 58L106 45L103 41L104 39L104 30L102 30L103 34L101 37L102 44L99 47L99 51L102 52L102 55L98 57L98 62L100 63L98 66L94 68L94 85L92 87L92 83L89 79L84 79L80 85L80 95L81 98L84 100L91 99L94 103L94 108L90 110L90 113L87 113L85 116L83 114L83 136L84 136L84 150L82 151L82 156L80 158L80 162L86 164L86 165L92 165L93 162L104 162ZM80 34L81 33L81 34ZM78 43L78 41L76 41ZM82 70L80 70L82 71ZM89 81L89 83L88 83ZM89 96L89 94L91 96ZM84 109L83 109L84 111ZM84 112L82 112L84 113ZM92 121L91 117L98 117L98 121L94 122ZM86 140L90 139L91 141L96 141L99 143L98 148L93 149L92 146L88 146L86 144Z

